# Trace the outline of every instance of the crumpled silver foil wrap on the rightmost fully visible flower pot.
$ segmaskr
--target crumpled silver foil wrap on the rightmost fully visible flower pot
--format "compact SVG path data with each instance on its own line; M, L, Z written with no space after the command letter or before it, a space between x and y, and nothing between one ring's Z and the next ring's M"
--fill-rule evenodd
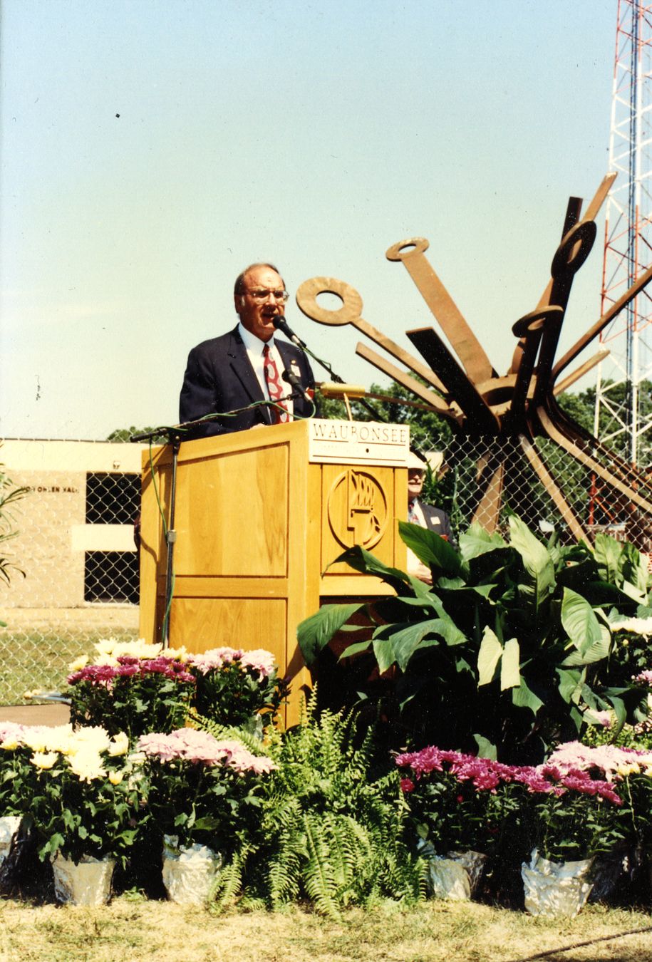
M525 909L548 918L575 916L582 911L592 888L587 880L592 858L578 862L550 862L535 848L530 864L521 865Z

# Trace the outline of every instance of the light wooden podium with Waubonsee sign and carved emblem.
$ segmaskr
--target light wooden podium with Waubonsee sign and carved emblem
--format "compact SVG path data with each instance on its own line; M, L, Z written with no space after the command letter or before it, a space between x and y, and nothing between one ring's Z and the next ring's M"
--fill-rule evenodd
M287 723L310 685L297 624L322 603L387 594L377 578L327 567L362 544L405 569L409 428L319 420L181 444L170 646L267 648L291 678ZM142 459L140 637L162 640L170 446ZM158 490L158 499L157 499ZM159 509L159 501L161 510Z

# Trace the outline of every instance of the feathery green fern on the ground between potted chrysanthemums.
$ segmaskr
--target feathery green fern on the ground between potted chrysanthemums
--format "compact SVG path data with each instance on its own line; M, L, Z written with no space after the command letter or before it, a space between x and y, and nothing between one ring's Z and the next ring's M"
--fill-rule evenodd
M307 899L339 918L349 905L424 895L424 865L404 841L407 807L389 757L377 758L373 728L355 716L315 711L277 735L278 769L263 801L261 836L242 876L245 899L279 909Z

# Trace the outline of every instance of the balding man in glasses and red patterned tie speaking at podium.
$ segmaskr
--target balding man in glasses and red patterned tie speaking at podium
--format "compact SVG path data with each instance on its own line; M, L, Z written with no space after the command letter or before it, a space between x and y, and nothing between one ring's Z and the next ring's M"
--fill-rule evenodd
M182 423L197 425L188 438L207 438L314 414L313 371L298 347L277 340L276 323L288 301L283 278L271 264L252 264L238 274L234 303L238 325L193 347L179 402Z

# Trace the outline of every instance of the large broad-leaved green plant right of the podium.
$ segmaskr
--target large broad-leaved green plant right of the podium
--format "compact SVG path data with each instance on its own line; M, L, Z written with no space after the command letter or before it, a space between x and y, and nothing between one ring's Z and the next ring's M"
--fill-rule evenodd
M554 536L543 544L522 520L513 516L509 526L507 541L472 525L456 551L401 521L432 587L356 546L338 561L376 574L394 594L325 605L299 625L313 665L336 634L359 631L366 619L364 640L343 657L391 670L385 711L394 712L399 745L479 747L532 763L576 737L587 708L613 708L619 723L642 717L640 693L621 678L610 684L610 620L649 613L647 559L603 535L593 547L564 546Z

